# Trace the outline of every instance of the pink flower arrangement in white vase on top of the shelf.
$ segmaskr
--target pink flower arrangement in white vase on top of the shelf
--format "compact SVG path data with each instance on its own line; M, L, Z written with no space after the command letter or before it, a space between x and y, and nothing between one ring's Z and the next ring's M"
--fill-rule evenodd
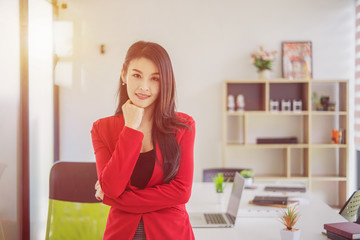
M266 69L271 70L272 62L275 60L276 54L276 50L268 52L263 46L259 46L259 48L250 55L251 63L258 69L258 72Z

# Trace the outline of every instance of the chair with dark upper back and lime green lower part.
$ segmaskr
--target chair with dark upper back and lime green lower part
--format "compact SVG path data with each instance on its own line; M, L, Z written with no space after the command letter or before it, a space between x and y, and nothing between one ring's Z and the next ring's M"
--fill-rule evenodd
M102 239L109 206L95 198L95 162L56 162L50 171L45 239Z

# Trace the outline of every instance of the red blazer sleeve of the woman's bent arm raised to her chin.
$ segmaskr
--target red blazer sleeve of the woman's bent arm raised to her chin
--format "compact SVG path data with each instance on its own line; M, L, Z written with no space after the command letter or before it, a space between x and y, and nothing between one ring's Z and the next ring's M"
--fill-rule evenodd
M139 157L143 133L132 128L123 127L115 150L110 152L107 141L111 141L110 129L101 120L93 124L91 137L96 158L96 169L99 183L104 194L117 198L126 189L132 170Z

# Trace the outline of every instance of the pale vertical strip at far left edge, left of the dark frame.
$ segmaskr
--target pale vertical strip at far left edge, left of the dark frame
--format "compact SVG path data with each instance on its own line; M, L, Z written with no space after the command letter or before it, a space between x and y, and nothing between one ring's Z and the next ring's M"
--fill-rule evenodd
M20 239L18 167L20 117L19 2L0 0L0 221L7 239ZM1 168L1 167L0 167ZM1 175L1 174L0 174ZM1 238L0 228L0 238Z

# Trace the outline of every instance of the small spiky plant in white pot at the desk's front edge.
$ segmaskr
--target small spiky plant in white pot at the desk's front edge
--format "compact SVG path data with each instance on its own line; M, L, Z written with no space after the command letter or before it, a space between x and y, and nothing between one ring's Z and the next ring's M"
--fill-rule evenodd
M286 228L280 231L282 240L299 240L301 230L294 228L294 225L299 220L299 214L296 207L288 207L284 210L280 221Z

